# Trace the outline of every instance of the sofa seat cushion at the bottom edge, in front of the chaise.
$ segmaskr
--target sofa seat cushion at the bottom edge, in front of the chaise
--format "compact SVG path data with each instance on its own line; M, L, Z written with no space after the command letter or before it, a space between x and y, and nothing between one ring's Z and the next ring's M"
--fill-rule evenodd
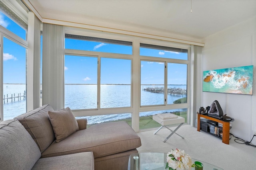
M94 170L92 152L40 158L32 170Z

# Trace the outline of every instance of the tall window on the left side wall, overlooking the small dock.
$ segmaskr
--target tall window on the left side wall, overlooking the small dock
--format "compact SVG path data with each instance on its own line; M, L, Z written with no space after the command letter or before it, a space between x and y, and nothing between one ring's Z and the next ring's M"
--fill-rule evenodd
M6 6L2 4L2 8ZM3 120L26 112L26 29L20 25L20 19L10 10L0 11L0 37L3 56L0 68L2 72L2 95ZM7 15L8 14L8 15ZM9 17L10 16L10 17ZM22 22L24 23L24 22ZM1 119L2 121L2 119Z

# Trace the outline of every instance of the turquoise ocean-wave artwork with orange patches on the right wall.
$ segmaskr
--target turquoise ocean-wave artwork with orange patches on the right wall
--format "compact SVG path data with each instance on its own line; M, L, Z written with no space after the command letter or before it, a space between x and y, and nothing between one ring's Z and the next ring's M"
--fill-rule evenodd
M203 71L203 92L252 95L253 65Z

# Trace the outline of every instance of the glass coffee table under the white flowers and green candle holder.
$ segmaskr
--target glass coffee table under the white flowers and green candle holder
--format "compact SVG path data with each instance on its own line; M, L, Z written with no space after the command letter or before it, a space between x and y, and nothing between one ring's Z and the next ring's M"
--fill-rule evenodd
M167 153L142 152L131 154L128 162L128 170L167 170L166 167ZM192 158L192 162L199 161L203 164L204 170L223 170L218 166L214 166L201 160ZM191 170L195 168L192 167Z

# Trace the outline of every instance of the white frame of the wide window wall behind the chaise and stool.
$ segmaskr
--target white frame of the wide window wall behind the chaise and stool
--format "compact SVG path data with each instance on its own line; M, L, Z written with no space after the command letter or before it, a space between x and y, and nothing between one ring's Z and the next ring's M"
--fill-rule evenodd
M170 109L180 109L186 108L187 109L187 122L190 123L191 117L191 48L192 46L189 44L182 44L182 43L174 43L171 41L161 41L158 39L149 39L144 37L136 37L131 35L123 35L118 33L111 33L111 32L104 32L104 31L95 31L89 29L82 29L82 28L73 28L73 27L65 27L65 33L71 34L78 34L78 35L85 35L85 36L92 36L92 37L103 37L106 39L118 39L124 41L132 41L132 55L123 55L124 59L131 59L132 60L132 84L131 84L131 107L121 107L121 108L104 108L104 109L97 109L97 110L73 110L75 116L93 116L93 115L102 115L102 114L115 114L115 113L132 113L132 128L134 131L138 132L139 129L139 113L144 111L159 111L159 110L170 110ZM140 56L140 43L146 44L155 44L155 45L162 45L167 47L174 47L174 48L182 48L188 50L188 60L179 60L179 59L168 59L168 58L161 58L161 57L148 57L148 56ZM94 52L94 51L80 51L80 50L72 50L72 49L65 49L65 55L97 55L99 57L117 57L120 58L120 54L115 53L102 53L102 52ZM121 58L122 58L121 57ZM169 104L165 106L150 106L150 107L140 107L140 76L133 76L136 74L140 74L140 61L141 60L153 60L153 61L162 61L165 63L181 63L187 64L187 103L186 104ZM165 75L167 76L167 69L165 69ZM167 81L167 78L166 78ZM99 81L98 81L99 83ZM165 82L167 84L167 82ZM100 95L100 93L98 93Z

